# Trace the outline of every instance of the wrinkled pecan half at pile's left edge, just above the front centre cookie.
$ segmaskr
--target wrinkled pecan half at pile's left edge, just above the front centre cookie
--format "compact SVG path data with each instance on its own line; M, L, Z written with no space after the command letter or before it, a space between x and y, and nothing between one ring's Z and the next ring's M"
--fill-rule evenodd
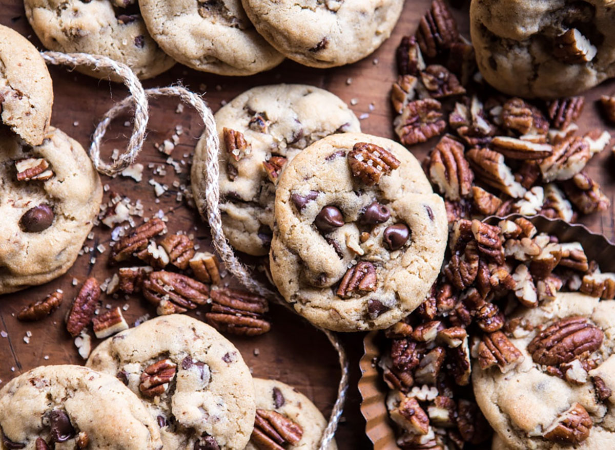
M446 122L442 118L442 105L433 98L410 101L395 117L395 133L402 144L421 143L442 134Z

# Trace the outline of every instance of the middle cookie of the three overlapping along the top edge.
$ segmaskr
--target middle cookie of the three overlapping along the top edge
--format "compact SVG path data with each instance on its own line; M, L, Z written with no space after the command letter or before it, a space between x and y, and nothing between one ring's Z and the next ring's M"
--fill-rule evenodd
M220 75L252 75L284 60L245 15L240 0L140 0L151 36L173 58Z

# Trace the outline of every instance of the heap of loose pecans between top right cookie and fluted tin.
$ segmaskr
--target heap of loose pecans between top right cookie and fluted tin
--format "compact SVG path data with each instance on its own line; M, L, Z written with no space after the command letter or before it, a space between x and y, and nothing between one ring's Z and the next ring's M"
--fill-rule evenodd
M442 0L432 2L415 36L402 39L397 67L391 101L402 143L425 142L448 127L424 170L445 197L450 223L509 213L574 222L578 213L609 207L584 167L611 135L576 135L584 98L533 105L490 88Z

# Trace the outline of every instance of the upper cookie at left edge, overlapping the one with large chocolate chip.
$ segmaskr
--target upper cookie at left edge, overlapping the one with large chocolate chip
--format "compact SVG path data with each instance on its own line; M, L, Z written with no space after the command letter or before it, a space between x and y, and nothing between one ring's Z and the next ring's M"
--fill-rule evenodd
M47 65L36 47L0 25L0 124L30 145L49 129L54 91Z

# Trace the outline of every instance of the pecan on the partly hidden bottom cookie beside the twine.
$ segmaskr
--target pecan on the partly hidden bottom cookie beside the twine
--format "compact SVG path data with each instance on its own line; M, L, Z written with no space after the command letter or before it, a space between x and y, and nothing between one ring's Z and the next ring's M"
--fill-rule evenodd
M260 450L284 450L301 441L303 428L287 416L269 409L256 409L250 441Z

